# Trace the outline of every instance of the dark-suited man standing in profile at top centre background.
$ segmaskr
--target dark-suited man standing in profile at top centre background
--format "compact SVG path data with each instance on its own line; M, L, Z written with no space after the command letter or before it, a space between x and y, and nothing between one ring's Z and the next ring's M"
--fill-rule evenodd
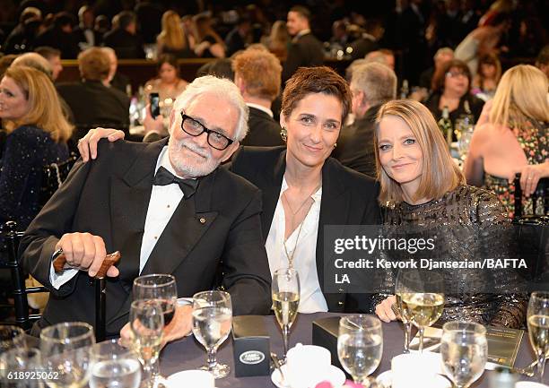
M319 66L324 63L324 47L310 32L310 12L301 5L293 6L286 22L292 42L283 65L283 82L300 67Z

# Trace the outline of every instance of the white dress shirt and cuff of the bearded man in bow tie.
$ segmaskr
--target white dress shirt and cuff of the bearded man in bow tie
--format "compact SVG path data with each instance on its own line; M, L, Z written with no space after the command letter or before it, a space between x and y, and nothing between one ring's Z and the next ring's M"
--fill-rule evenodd
M165 146L156 162L155 173L158 168L166 168L170 173L177 177L175 170L171 167L170 157L168 155L168 146ZM171 185L153 185L151 200L147 209L147 216L144 224L144 234L141 241L141 254L139 256L139 273L144 269L149 255L153 252L156 242L161 237L162 231L168 225L174 211L183 199L183 192L179 185L173 183ZM65 270L61 274L57 274L51 265L49 271L49 281L55 289L59 289L68 280L74 278L78 270Z

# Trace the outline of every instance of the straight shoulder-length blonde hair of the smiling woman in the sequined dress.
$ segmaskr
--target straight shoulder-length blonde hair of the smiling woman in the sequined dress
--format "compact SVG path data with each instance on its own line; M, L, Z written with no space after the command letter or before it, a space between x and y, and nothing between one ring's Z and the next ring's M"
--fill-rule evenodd
M379 123L385 116L396 116L402 119L414 134L423 152L423 173L420 185L412 200L437 199L455 189L457 185L466 183L463 173L452 160L439 125L429 109L412 99L396 99L388 101L379 108L376 117L374 144L376 169L381 184L379 203L401 203L404 201L402 187L388 176L379 160Z

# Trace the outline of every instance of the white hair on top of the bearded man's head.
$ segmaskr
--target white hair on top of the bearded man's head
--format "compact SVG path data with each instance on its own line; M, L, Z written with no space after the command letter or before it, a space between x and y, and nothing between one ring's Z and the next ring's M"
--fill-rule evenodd
M217 78L213 75L205 75L198 77L195 81L189 83L185 91L183 91L174 103L176 110L184 110L188 108L193 99L196 99L200 94L209 93L214 96L225 99L239 112L239 121L237 123L234 134L235 141L240 142L246 134L248 134L248 106L239 88L230 80ZM211 107L215 109L215 107Z

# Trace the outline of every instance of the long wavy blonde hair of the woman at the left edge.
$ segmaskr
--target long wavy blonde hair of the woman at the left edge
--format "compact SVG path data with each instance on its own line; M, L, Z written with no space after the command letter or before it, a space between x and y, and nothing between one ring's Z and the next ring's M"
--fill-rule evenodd
M66 142L71 137L73 126L63 115L56 88L48 75L28 66L14 66L7 69L4 77L12 79L29 102L29 111L24 116L5 123L8 132L22 125L36 125L55 142Z

